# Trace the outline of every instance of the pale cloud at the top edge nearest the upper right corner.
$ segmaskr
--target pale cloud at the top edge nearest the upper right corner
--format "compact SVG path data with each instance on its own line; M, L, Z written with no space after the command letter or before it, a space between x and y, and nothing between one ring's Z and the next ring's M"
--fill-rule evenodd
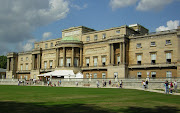
M140 11L162 10L166 5L172 3L173 0L141 0L136 7Z

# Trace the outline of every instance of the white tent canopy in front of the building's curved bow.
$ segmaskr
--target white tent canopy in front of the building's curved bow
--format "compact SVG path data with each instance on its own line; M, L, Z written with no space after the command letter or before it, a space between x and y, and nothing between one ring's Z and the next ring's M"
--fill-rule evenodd
M75 78L75 74L73 72L73 70L55 70L49 73L44 73L44 74L40 74L37 76L57 76L57 77L61 77L64 76L64 78Z

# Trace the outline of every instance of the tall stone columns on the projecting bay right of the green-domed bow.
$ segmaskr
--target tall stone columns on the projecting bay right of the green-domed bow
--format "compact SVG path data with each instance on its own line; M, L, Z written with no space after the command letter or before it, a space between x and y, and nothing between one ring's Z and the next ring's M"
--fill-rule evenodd
M125 43L120 42L119 43L119 53L120 53L120 64L125 64ZM114 65L114 45L109 44L109 64Z

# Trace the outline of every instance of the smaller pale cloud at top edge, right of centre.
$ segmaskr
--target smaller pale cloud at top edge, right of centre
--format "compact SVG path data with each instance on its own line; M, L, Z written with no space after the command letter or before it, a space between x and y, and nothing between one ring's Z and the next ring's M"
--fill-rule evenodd
M110 0L110 6L115 10L117 8L134 5L136 2L137 0Z

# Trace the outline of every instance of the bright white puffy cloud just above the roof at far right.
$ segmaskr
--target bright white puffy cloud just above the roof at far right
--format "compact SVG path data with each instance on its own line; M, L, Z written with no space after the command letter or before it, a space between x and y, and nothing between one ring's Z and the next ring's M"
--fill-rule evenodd
M179 20L175 20L175 21L170 20L167 22L167 27L160 26L156 28L156 32L177 29L178 26L179 26Z

